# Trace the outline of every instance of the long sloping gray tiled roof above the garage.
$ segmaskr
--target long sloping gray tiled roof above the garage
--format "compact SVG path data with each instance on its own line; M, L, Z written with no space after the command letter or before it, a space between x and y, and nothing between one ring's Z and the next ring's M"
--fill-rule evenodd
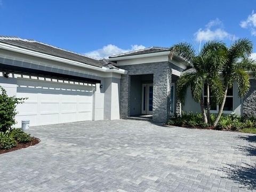
M86 57L82 54L74 53L71 51L63 50L58 47L47 45L41 42L37 42L31 39L22 39L19 37L10 37L10 36L0 36L0 42L18 46L23 49L36 51L40 53L45 53L49 55L53 55L55 57L60 57L64 59L69 59L77 62L82 62L87 65L96 66L96 67L102 67L103 63L100 60L92 59L89 57Z

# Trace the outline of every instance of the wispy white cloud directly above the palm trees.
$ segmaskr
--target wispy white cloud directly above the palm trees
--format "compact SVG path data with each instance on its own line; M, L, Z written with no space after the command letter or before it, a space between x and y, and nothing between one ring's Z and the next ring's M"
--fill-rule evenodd
M194 36L197 42L236 38L223 29L223 23L218 18L207 23L204 29L198 29Z

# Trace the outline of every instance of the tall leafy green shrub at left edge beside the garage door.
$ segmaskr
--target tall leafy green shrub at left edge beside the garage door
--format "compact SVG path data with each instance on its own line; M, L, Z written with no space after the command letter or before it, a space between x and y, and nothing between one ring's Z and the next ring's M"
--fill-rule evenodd
M3 87L0 86L0 132L6 132L15 124L17 115L16 106L25 98L9 97Z

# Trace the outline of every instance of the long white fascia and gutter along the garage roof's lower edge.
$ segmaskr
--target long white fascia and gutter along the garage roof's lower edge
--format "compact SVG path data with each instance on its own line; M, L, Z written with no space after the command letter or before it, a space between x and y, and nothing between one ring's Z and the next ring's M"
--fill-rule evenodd
M118 73L118 74L126 74L127 73L127 71L124 70L124 69L109 69L109 68L106 68L106 67L102 67L102 68L101 67L95 67L95 66L87 65L87 64L82 63L82 62L73 61L73 60L69 60L69 59L64 59L64 58L60 58L60 57L55 57L53 55L39 53L39 52L36 52L36 51L23 49L23 48L13 46L13 45L8 45L8 44L5 44L5 43L0 43L0 49L7 50L7 51L14 51L14 52L22 53L22 54L28 54L28 55L31 55L31 56L34 56L34 57L49 59L49 60L58 61L58 62L63 62L63 63L67 63L69 65L73 65L73 66L77 66L77 67L83 67L83 68L87 68L87 69L93 69L93 70L102 71L102 72L111 72L111 73Z

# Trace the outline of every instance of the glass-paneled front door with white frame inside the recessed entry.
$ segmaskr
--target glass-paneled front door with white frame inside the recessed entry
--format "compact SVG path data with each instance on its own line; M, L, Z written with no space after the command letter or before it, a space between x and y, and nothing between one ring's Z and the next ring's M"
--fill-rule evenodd
M142 84L142 114L153 114L153 84Z

